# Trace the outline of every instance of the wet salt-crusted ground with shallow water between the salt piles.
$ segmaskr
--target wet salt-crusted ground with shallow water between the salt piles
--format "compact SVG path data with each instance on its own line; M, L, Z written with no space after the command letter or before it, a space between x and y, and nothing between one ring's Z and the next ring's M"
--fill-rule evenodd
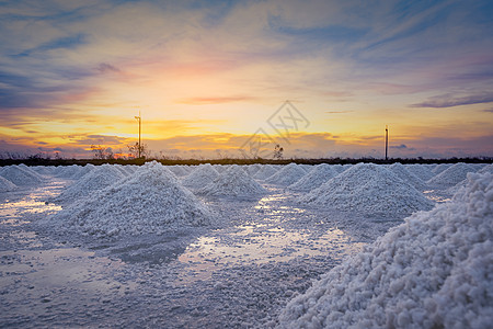
M96 239L42 225L69 181L0 195L0 327L265 328L397 220L329 213L276 186L204 200L210 228Z

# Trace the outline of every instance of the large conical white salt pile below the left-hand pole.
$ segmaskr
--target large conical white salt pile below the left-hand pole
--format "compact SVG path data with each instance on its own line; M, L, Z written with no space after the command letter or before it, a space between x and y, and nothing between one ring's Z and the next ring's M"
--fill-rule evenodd
M207 225L208 208L157 162L56 214L53 222L99 236L162 234Z

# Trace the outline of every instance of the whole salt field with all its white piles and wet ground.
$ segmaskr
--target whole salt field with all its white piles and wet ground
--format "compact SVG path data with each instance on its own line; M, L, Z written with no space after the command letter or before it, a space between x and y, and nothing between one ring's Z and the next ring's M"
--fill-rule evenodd
M489 328L491 164L0 168L0 327Z

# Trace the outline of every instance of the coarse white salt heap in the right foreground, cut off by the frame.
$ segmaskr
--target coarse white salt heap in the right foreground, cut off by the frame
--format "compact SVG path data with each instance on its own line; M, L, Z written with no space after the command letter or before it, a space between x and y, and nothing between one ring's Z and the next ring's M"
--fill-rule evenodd
M282 328L491 328L493 175L417 213L322 276Z

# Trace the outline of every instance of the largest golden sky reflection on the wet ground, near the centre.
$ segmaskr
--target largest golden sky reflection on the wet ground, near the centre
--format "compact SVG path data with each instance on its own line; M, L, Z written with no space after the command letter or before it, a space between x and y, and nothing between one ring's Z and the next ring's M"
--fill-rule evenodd
M188 264L181 280L206 280L211 271L226 265L284 262L295 258L330 256L342 259L359 251L366 243L354 242L337 228L313 236L309 230L286 230L278 226L242 225L228 236L204 236L191 243L177 260ZM186 275L186 277L185 277Z

